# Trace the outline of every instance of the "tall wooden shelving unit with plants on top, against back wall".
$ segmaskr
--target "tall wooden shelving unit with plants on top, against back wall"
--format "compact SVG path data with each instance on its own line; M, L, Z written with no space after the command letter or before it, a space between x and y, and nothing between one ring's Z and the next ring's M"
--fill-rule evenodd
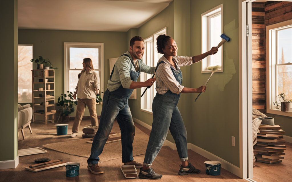
M55 121L55 70L32 70L32 90L33 122Z

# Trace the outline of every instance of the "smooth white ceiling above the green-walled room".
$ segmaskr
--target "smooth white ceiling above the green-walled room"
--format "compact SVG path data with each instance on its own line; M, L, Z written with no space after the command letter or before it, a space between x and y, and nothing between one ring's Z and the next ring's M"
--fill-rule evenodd
M138 28L172 0L18 0L18 28L121 31Z

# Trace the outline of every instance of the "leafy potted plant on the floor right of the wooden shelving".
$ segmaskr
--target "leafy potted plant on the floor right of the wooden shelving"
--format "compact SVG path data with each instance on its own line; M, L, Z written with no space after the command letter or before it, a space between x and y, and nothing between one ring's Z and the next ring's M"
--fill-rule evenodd
M61 96L58 98L57 106L60 106L60 116L58 118L58 121L60 117L62 116L62 121L69 121L70 114L74 112L73 106L77 105L77 101L73 98L73 93L70 91L67 91L67 94L61 93ZM58 122L57 121L57 122Z

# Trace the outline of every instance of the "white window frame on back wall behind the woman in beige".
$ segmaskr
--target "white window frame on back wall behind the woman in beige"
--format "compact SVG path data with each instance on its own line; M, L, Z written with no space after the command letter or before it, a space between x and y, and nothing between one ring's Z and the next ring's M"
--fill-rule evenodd
M104 60L104 49L103 43L85 43L85 42L64 42L64 92L69 90L69 48L70 47L80 47L80 48L99 48L99 60L100 68L100 96L103 97L103 60Z

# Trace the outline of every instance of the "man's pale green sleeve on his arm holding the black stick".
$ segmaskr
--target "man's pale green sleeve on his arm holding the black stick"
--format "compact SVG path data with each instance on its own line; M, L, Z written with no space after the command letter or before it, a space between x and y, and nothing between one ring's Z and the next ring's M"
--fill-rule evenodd
M129 89L133 80L131 80L130 70L131 62L127 58L122 58L119 62L116 63L116 67L119 70L119 77L121 84L125 89Z

